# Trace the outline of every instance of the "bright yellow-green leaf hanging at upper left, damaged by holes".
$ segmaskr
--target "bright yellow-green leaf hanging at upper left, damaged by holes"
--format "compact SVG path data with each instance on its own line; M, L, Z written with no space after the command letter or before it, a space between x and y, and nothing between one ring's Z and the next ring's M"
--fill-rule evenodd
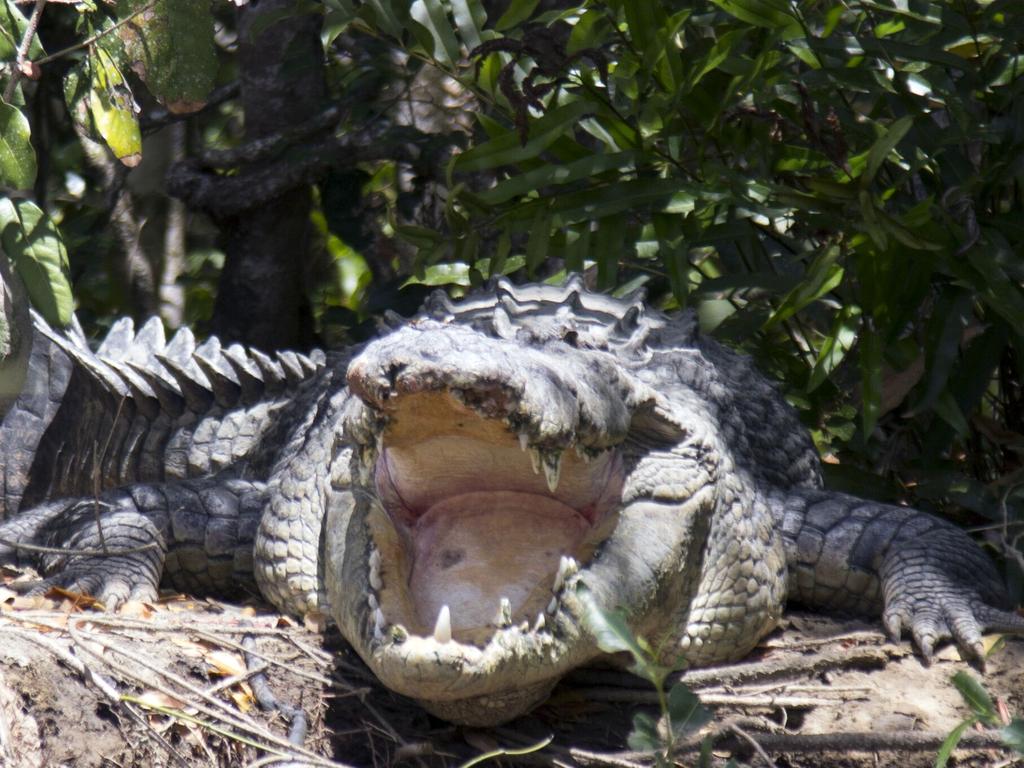
M89 69L92 73L89 112L96 131L118 160L134 168L142 162L142 134L135 119L135 99L103 48L93 47Z

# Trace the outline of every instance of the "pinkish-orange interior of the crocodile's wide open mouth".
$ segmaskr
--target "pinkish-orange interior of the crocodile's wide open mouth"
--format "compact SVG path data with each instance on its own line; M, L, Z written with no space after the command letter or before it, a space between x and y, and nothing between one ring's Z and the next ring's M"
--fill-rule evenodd
M531 445L447 391L406 394L385 412L370 519L378 639L393 626L475 645L542 630L613 525L617 454Z

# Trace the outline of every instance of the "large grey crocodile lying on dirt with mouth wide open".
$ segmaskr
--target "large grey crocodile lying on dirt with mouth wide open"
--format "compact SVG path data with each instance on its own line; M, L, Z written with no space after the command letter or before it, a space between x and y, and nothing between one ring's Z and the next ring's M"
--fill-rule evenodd
M751 359L641 294L433 294L348 350L264 354L159 321L93 351L36 317L0 427L0 561L108 607L256 591L330 615L457 723L543 701L621 610L666 658L741 658L786 599L881 615L927 658L1024 631L988 556L822 487Z

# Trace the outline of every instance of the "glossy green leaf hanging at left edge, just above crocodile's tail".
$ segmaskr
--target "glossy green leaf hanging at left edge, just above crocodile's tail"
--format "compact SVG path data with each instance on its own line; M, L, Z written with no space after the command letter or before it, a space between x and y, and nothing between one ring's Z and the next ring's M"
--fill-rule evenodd
M68 252L49 216L31 201L0 199L0 243L46 322L59 327L71 323Z

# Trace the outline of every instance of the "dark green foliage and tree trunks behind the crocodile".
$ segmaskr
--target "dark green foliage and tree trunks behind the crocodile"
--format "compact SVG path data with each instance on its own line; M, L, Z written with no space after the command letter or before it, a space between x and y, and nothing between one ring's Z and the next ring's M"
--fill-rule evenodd
M644 288L781 382L833 486L977 526L1020 598L1015 0L0 16L3 247L54 322L308 347L497 274Z

